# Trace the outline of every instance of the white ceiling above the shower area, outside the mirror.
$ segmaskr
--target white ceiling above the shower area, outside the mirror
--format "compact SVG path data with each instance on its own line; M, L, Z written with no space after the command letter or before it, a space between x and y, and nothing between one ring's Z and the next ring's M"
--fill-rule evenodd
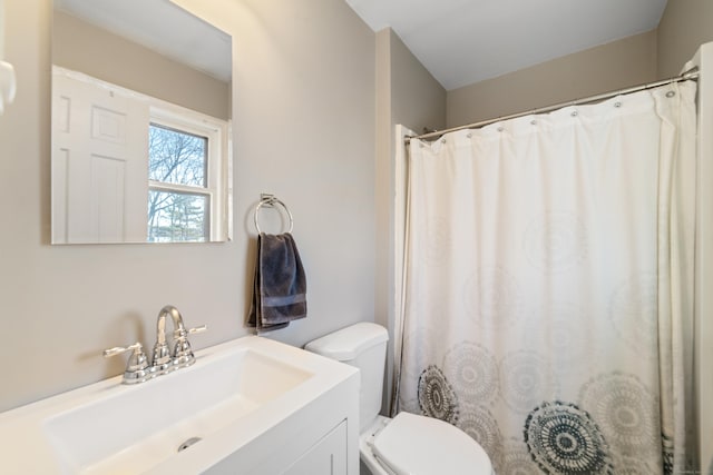
M346 0L452 90L658 26L666 0Z

